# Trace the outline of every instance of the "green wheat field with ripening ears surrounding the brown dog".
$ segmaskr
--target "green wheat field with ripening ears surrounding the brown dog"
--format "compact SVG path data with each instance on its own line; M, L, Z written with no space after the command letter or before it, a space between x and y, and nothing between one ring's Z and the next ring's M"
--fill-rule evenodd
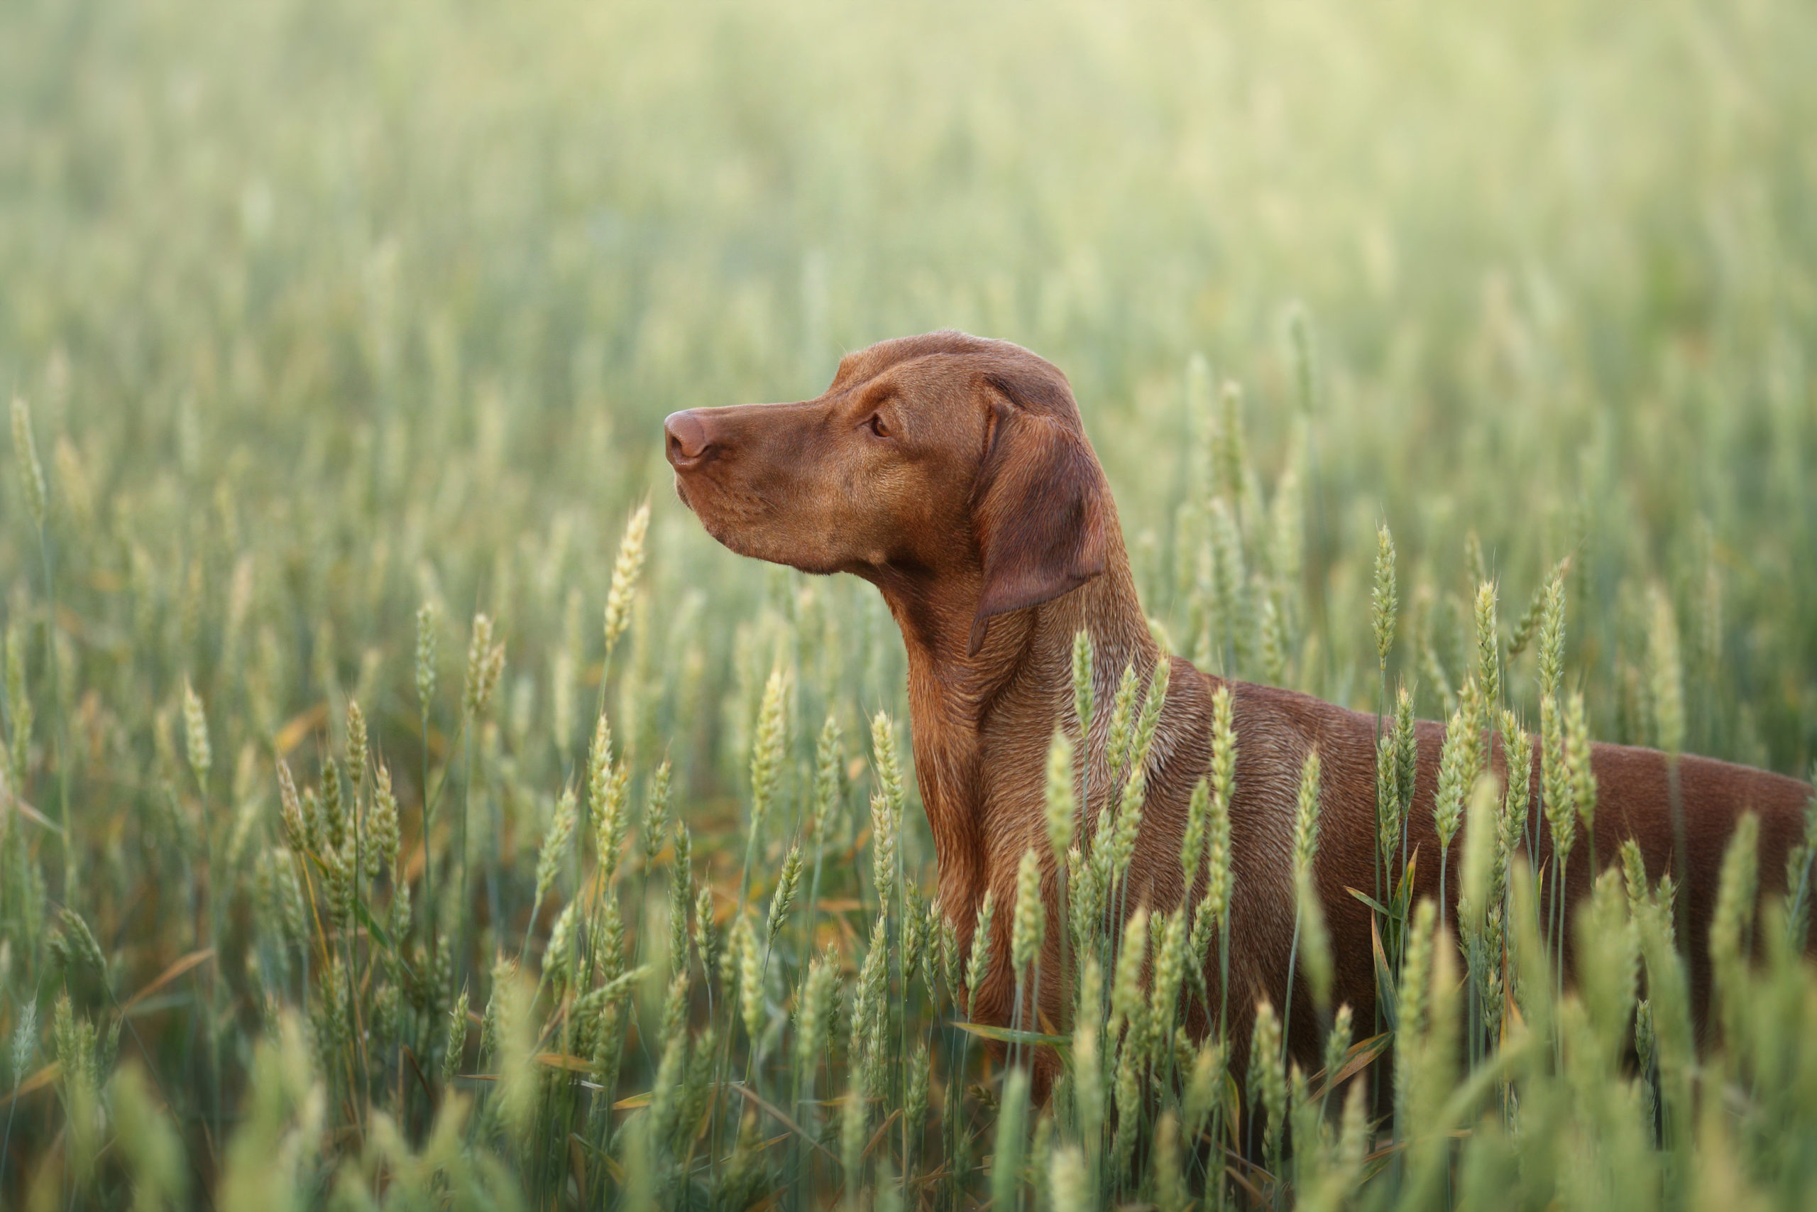
M1561 849L1592 736L1810 776L1812 62L1795 0L0 7L0 1207L1813 1207L1817 809L1757 912L1737 830L1697 1047L1673 889L1544 912L1483 743ZM1319 1072L1181 1028L1239 732L1150 916L1159 700L1079 700L1070 1012L972 1027L889 612L676 502L665 412L936 327L1070 376L1167 649L1383 712Z

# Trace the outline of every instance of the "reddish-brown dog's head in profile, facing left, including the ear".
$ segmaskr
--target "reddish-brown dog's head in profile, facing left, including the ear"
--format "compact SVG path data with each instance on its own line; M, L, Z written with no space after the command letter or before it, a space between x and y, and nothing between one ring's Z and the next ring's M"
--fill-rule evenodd
M1105 571L1110 491L1067 376L1008 342L930 333L847 354L801 403L665 422L676 492L732 551L961 594L985 621Z

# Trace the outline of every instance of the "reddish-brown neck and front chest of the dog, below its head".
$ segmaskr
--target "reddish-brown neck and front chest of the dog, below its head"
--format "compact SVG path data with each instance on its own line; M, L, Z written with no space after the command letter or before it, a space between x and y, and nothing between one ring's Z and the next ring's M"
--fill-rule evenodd
M1116 531L1112 523L1112 532ZM1123 671L1143 683L1161 656L1136 594L1128 554L1114 538L1105 572L1052 601L988 621L968 651L981 581L879 581L908 654L916 778L939 865L941 899L968 923L985 890L1008 896L1023 849L1045 852L1045 760L1054 727L1072 714L1072 649L1092 640L1094 700L1105 709ZM1097 716L1105 710L1094 712ZM1088 760L1103 763L1105 729Z

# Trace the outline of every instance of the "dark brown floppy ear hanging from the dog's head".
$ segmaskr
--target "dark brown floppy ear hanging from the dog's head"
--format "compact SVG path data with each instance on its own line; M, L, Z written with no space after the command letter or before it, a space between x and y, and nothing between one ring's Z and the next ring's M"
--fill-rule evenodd
M985 623L1005 611L1041 605L1105 571L1110 487L1061 387L985 380L985 456L972 489L972 532L985 589L972 620L970 652ZM1032 392L1032 394L1030 394ZM1065 412L1043 396L1065 396ZM1027 402L1019 396L1030 394ZM1028 405L1034 407L1028 407Z

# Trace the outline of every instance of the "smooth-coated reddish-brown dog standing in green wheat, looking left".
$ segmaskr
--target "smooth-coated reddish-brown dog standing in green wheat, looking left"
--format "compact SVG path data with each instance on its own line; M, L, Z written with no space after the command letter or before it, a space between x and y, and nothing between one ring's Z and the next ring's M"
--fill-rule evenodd
M676 492L732 551L805 572L854 572L881 592L908 651L916 776L939 865L941 901L970 945L987 889L1014 903L1016 865L1034 847L1047 865L1043 967L1057 970L1052 858L1045 841L1045 756L1056 721L1072 723L1070 654L1079 629L1096 647L1096 694L1107 703L1125 665L1147 676L1159 651L1136 600L1116 505L1079 423L1067 378L1007 342L932 333L881 342L839 362L832 385L803 403L689 409L667 423ZM1179 903L1187 801L1210 756L1216 678L1172 658L1148 763L1148 800L1130 865L1154 909ZM1294 930L1290 841L1301 763L1323 760L1317 887L1334 952L1334 1003L1368 1023L1375 1005L1370 910L1345 889L1374 883L1375 720L1270 687L1232 683L1237 767L1232 818L1236 890L1230 1007L1239 1038L1266 996L1286 1001ZM1092 716L1092 785L1107 785L1108 710ZM1432 803L1443 729L1419 725L1410 845L1435 856ZM1610 861L1635 838L1652 878L1673 867L1666 761L1648 749L1597 745L1595 849ZM1495 752L1497 774L1503 772ZM1761 818L1761 887L1784 889L1784 856L1802 830L1810 787L1748 767L1679 763L1688 870L1693 1003L1708 999L1706 938L1723 849L1737 818ZM1539 772L1532 774L1539 805ZM1090 805L1096 820L1097 803ZM1544 832L1544 830L1541 830ZM1459 845L1459 843L1454 843ZM1548 861L1546 852L1535 865ZM1459 856L1452 856L1455 869ZM1417 863L1417 889L1437 896L1439 863ZM1586 847L1568 865L1566 903L1592 883ZM1457 881L1450 883L1455 896ZM978 1016L1008 1023L1008 914L992 939L996 965ZM1216 990L1216 963L1210 981ZM1216 994L1214 994L1216 996ZM1041 987L1059 1023L1063 990ZM1290 1039L1317 1068L1312 999L1292 1001Z

